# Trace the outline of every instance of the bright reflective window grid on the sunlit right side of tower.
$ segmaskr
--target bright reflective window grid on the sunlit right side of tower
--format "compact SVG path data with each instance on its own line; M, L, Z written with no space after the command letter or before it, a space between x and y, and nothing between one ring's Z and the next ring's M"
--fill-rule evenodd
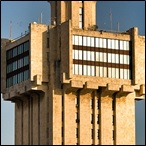
M131 79L130 42L73 35L73 74Z

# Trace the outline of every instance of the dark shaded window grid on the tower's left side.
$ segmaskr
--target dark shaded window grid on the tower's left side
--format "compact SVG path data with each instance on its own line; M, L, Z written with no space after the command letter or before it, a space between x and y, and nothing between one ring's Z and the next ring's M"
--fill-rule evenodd
M29 41L6 53L6 87L29 79Z

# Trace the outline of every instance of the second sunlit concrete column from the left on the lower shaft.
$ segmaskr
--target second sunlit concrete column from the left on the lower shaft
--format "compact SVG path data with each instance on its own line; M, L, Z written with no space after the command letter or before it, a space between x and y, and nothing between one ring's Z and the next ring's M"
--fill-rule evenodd
M76 144L76 93L64 94L64 144Z

